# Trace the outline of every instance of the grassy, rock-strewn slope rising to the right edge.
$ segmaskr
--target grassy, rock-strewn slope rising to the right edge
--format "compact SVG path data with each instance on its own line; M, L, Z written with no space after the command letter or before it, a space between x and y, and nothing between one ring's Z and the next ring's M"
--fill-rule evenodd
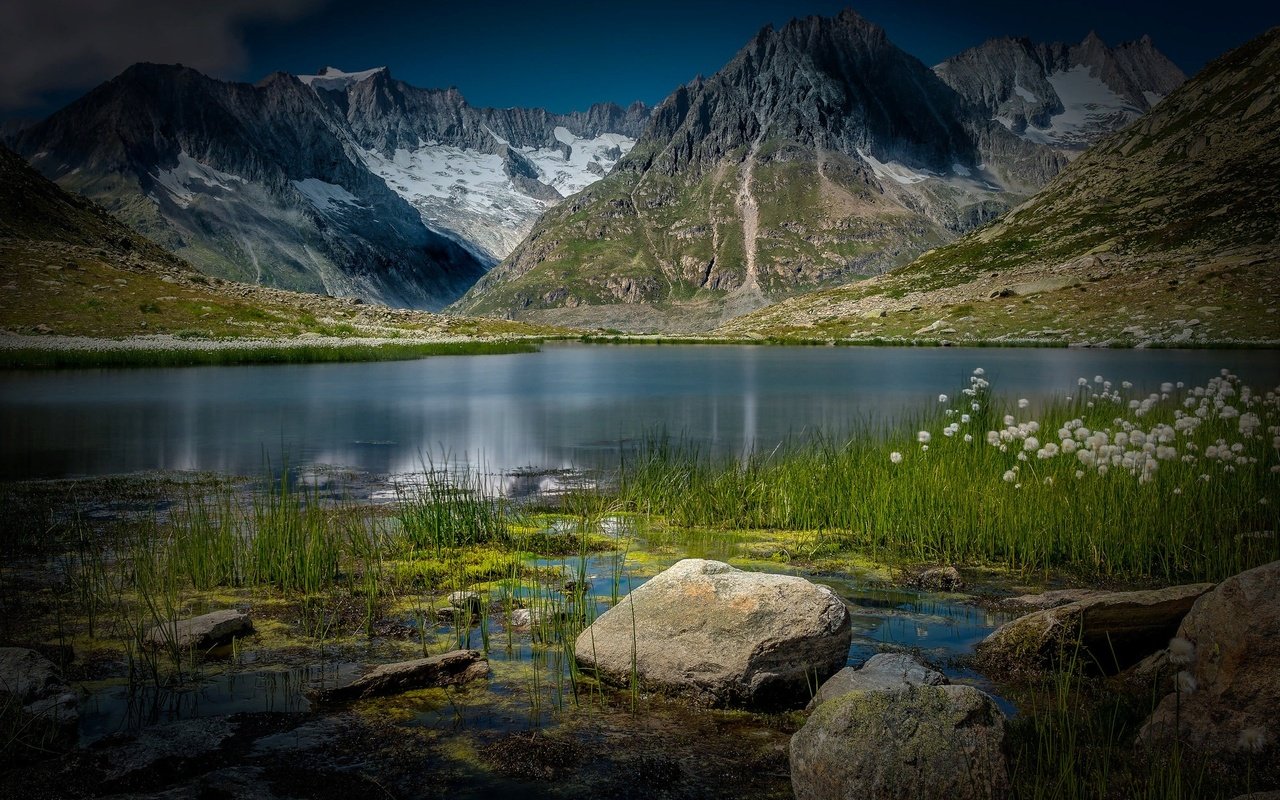
M1280 28L1224 55L1020 207L909 266L724 335L1280 342Z

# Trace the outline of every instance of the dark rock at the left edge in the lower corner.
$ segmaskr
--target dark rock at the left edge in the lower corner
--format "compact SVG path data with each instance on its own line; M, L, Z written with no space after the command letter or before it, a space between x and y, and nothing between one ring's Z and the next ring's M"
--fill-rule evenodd
M79 698L51 660L27 648L0 648L0 724L10 744L31 753L70 746L78 722Z

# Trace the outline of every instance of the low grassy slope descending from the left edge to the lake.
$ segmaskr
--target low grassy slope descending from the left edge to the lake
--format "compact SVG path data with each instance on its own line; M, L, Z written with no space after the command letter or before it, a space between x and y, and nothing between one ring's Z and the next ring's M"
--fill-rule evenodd
M0 332L119 338L529 335L512 323L285 292L210 278L0 146Z

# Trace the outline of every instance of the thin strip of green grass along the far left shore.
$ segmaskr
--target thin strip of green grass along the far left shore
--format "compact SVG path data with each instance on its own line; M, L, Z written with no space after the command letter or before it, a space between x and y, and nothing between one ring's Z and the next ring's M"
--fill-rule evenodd
M481 356L535 353L539 344L522 342L428 342L388 344L269 344L210 349L0 349L0 369L116 369L233 366L261 364L337 364L353 361L406 361L429 356Z

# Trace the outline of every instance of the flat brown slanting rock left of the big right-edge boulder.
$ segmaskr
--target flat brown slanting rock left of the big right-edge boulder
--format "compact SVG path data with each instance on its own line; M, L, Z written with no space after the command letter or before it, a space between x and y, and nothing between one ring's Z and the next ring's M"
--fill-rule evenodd
M978 654L1001 669L1042 667L1071 658L1075 645L1103 672L1117 672L1161 649L1197 598L1212 584L1148 591L1111 591L1047 608L1009 622L978 645Z

